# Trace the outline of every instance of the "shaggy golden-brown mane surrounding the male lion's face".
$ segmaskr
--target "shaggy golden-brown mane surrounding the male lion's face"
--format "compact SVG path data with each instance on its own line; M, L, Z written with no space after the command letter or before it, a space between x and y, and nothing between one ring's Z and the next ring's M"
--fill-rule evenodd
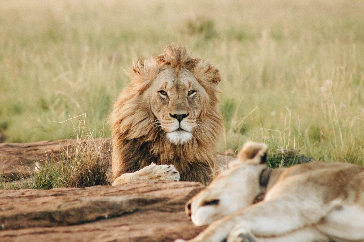
M142 95L158 73L167 67L191 71L209 97L208 105L198 116L202 125L192 131L193 138L185 144L170 143L164 131L152 125L156 117ZM159 56L138 58L128 75L130 83L110 115L114 178L154 162L173 164L182 181L210 182L215 172L219 135L223 131L217 97L217 84L221 80L218 70L207 61L192 57L183 46L172 45L164 47Z

